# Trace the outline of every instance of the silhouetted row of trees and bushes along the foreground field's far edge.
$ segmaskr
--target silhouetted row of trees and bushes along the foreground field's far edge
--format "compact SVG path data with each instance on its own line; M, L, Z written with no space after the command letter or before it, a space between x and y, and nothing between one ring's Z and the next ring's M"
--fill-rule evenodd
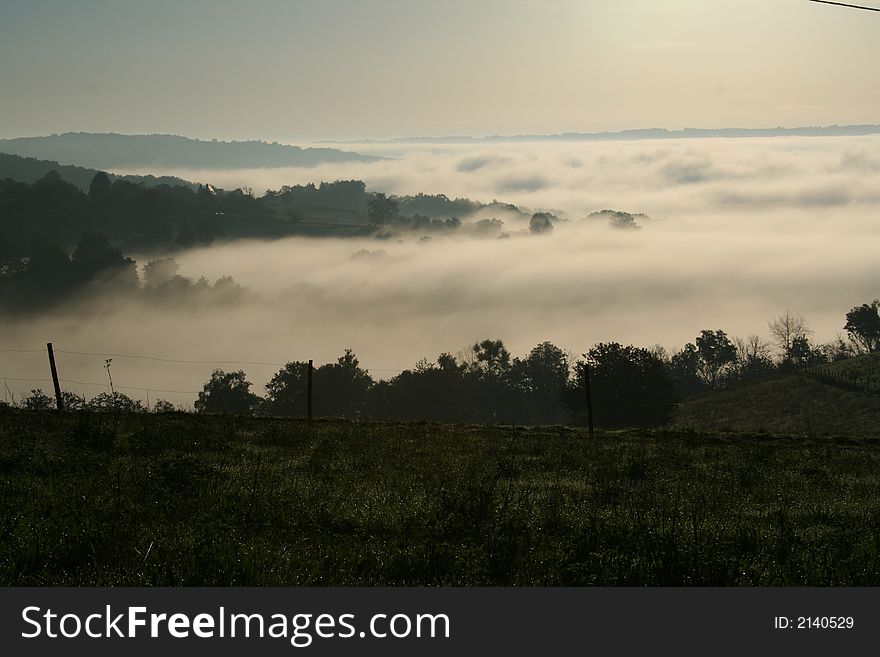
M880 353L880 300L846 314L847 339L816 344L806 320L786 311L769 322L772 342L757 336L731 338L723 330L703 330L681 349L595 344L575 357L542 342L522 357L502 340L476 342L459 354L422 359L389 380L376 380L354 352L312 370L315 416L480 424L582 424L586 420L586 376L590 377L595 421L605 428L667 424L681 400L741 384L773 372L831 363L859 354ZM310 365L290 361L266 385L252 391L243 370L215 370L195 401L198 413L303 417L307 412ZM151 409L126 395L95 399L65 394L65 407L94 410L169 411L159 400ZM28 409L51 408L53 401L33 390L21 400Z

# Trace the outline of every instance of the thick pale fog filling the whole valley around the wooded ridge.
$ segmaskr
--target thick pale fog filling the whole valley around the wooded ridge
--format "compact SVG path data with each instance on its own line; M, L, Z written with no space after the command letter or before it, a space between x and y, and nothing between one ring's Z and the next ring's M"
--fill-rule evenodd
M181 274L230 275L249 294L213 306L104 300L52 316L7 318L3 346L52 340L69 351L268 363L323 363L351 347L384 378L486 337L503 339L515 354L549 340L578 355L608 340L674 348L706 328L768 337L768 320L786 309L803 314L814 338L827 341L842 332L847 310L880 296L880 138L356 150L397 159L151 173L257 193L357 178L374 191L497 198L551 210L560 220L550 234L532 235L527 219L498 216L508 239L293 238L185 251L175 255ZM605 208L650 219L639 220L641 230L617 230L587 218ZM4 354L0 376L42 377L44 360ZM104 381L103 364L100 357L59 356L70 380ZM213 365L117 358L111 367L120 386L187 392L201 387ZM245 369L257 392L278 369L221 367ZM9 385L20 392L38 384Z

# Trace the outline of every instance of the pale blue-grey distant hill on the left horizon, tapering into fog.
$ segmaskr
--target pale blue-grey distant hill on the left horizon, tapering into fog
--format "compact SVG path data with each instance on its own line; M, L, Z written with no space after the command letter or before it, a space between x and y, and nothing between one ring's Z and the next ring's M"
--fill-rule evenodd
M48 137L0 139L0 152L76 163L96 169L125 167L253 169L312 167L380 158L333 148L300 148L263 141L201 141L175 135L67 132Z

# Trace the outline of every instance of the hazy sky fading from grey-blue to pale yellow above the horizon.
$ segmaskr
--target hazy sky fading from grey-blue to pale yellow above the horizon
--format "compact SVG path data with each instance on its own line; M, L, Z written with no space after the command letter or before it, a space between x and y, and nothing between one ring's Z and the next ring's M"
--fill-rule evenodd
M880 122L880 15L807 0L2 0L0 61L6 137Z

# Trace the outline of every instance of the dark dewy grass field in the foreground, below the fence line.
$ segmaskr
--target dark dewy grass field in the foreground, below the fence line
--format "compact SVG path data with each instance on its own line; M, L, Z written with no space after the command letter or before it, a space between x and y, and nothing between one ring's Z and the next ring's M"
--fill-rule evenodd
M6 585L878 585L880 440L0 413Z

